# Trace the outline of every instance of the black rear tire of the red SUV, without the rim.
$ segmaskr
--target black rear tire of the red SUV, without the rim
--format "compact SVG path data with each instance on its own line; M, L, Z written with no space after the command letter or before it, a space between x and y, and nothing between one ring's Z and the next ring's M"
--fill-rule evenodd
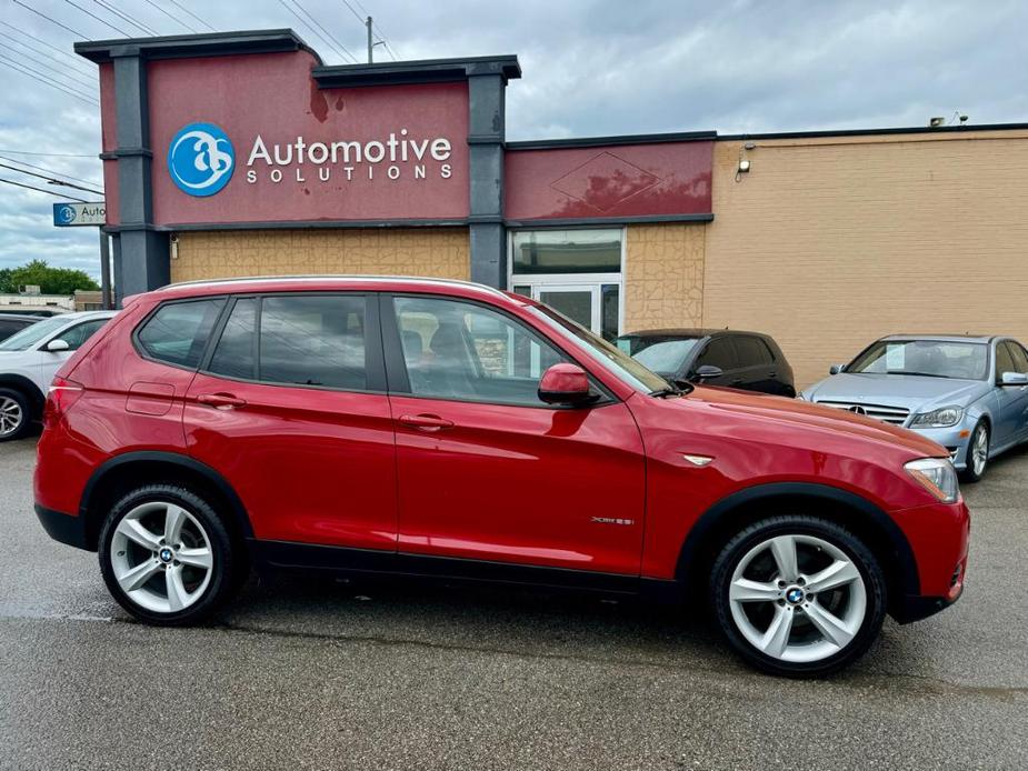
M141 504L160 502L173 503L189 512L206 531L211 552L210 580L202 594L183 610L173 612L157 612L129 597L114 575L112 562L111 543L118 524ZM98 551L100 572L111 595L134 618L160 627L188 627L209 618L236 594L247 578L243 549L232 539L214 508L200 495L174 484L148 484L119 500L103 522Z

